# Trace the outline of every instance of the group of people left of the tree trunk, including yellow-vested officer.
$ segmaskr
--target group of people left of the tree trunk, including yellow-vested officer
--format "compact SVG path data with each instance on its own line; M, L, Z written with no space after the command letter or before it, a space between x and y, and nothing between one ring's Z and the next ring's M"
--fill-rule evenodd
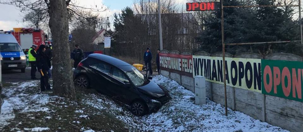
M41 91L51 90L51 86L48 83L48 79L52 77L51 74L51 60L52 60L52 50L51 43L44 45L43 43L39 46L38 50L36 48L38 45L32 45L28 50L28 61L31 64L31 79L37 80L36 71L40 72L41 78Z

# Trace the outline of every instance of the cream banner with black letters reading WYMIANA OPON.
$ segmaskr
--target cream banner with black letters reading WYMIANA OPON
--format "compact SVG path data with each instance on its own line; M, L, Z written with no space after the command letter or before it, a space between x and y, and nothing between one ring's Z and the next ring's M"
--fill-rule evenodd
M193 55L193 76L224 84L222 57ZM261 93L261 59L225 58L226 85Z

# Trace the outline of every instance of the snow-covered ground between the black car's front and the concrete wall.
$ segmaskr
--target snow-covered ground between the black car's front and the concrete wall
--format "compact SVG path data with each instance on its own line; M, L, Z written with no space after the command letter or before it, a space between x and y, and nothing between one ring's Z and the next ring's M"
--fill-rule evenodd
M155 83L168 89L172 99L156 113L145 115L141 121L147 127L144 131L281 131L280 127L255 120L244 113L228 109L228 117L224 115L225 108L207 99L205 105L196 105L189 98L195 94L180 86L176 81L158 75L153 77Z

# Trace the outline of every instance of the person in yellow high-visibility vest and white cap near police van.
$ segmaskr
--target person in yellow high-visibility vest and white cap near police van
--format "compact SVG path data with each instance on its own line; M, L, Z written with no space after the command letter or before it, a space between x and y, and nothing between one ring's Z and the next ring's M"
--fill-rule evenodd
M28 61L31 63L31 79L36 80L36 71L37 71L37 63L36 63L36 51L35 49L38 45L32 45L32 47L28 50Z

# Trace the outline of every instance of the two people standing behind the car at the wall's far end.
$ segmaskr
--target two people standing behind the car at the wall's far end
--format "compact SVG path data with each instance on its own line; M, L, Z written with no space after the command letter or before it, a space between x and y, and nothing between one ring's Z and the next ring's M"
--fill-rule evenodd
M160 50L157 50L157 57L156 57L156 64L157 64L157 70L158 75L160 75L160 57L159 57ZM146 72L149 71L150 75L152 75L152 69L151 69L151 60L152 60L152 54L150 52L150 48L146 48L146 52L144 53L144 62L146 66Z

